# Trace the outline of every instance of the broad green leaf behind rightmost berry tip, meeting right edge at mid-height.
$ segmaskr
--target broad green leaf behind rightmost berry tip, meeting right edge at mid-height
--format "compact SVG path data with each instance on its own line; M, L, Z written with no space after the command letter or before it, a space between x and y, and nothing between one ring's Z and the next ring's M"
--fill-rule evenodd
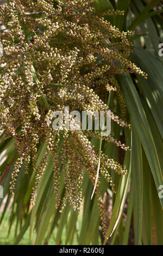
M155 122L163 138L163 116L161 111L163 105L162 64L152 55L152 53L143 49L136 48L133 57L136 65L139 65L139 67L148 74L147 80L139 76L137 78L140 81L139 85L141 86L141 90L145 95L149 109L151 109ZM154 76L154 74L157 75Z

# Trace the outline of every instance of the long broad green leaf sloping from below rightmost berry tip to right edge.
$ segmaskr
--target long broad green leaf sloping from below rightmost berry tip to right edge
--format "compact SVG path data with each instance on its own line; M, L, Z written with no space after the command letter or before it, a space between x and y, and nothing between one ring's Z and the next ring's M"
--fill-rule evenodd
M145 111L143 110L139 95L130 78L130 75L124 74L121 77L121 87L124 93L124 98L126 99L126 104L128 110L133 120L134 127L139 134L141 144L146 152L146 156L151 167L151 171L154 177L156 188L163 182L162 172L160 168L158 154L156 152L156 147L154 144L151 129L149 127ZM160 199L161 205L163 207L163 199Z

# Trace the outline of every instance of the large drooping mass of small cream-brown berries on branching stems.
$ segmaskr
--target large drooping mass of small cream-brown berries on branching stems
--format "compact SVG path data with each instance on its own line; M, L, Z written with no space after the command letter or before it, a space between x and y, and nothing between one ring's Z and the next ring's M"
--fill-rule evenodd
M12 135L19 153L10 182L14 193L16 178L24 164L28 174L30 161L36 172L32 192L34 204L37 188L47 165L48 154L54 163L54 191L60 211L67 198L74 210L82 207L83 170L95 184L98 154L88 136L101 138L97 131L54 131L53 111L72 110L107 111L106 96L117 93L122 118L111 112L111 120L122 127L127 123L126 105L116 74L146 74L128 60L132 44L128 37L132 32L121 32L103 16L123 15L121 11L96 11L93 0L11 0L0 5L0 31L3 45L3 64L0 77L0 130L3 139ZM111 43L111 41L113 43ZM73 120L73 117L70 117ZM59 146L59 143L63 143ZM129 147L108 136L124 150ZM47 142L45 155L39 166L37 145ZM109 169L118 174L127 170L113 159L101 153L100 172L116 192ZM60 170L64 170L65 197L60 201ZM103 231L105 210L99 178L96 187Z

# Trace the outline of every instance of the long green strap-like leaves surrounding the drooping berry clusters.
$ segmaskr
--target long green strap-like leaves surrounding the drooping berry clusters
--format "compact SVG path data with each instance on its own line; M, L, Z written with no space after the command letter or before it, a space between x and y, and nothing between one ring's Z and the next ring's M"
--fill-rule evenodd
M9 183L17 153L10 138L0 145L0 153L3 153L4 159L0 169L1 184L3 184L4 196L8 195L1 223L10 201L13 200L10 209L10 229L16 222L16 244L20 242L29 227L31 234L35 230L32 240L34 244L47 243L52 234L57 245L60 243L72 245L74 237L77 237L79 245L97 245L102 242L126 245L133 243L133 237L135 245L163 243L163 199L158 196L159 186L163 184L161 156L163 73L162 59L158 55L158 46L162 41L161 1L154 0L149 3L143 0L99 0L96 4L97 9L115 8L125 11L124 16L109 16L107 19L123 31L128 29L135 31L135 35L131 38L135 46L131 60L148 74L147 81L134 74L117 76L127 105L131 130L117 126L113 128L116 138L130 145L131 152L124 153L115 145L106 142L102 145L104 153L108 154L109 158L120 160L124 168L129 170L123 177L112 173L117 184L116 195L112 194L108 183L101 177L101 190L108 216L107 235L111 237L109 241L105 241L99 228L97 198L90 200L93 186L86 173L83 184L82 216L78 216L78 212L74 212L68 203L62 213L56 209L57 200L53 193L53 163L50 156L34 207L31 209L30 206L30 194L35 183L32 165L29 166L32 175L28 176L24 174L22 167L16 183L15 195L12 197ZM116 115L121 116L117 96L113 93L110 109L113 110L115 104ZM96 148L100 147L98 139L92 139L91 142ZM37 166L41 162L45 148L45 144L39 147ZM61 178L61 197L64 197L64 193L64 181ZM2 204L2 199L0 202ZM133 231L132 235L131 231ZM66 233L64 240L63 232Z

